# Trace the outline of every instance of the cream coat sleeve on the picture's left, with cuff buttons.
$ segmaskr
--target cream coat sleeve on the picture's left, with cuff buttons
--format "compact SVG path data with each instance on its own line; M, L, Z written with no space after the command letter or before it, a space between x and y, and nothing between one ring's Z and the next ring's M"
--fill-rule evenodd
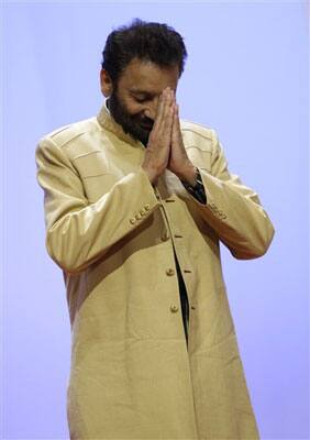
M44 189L47 252L68 273L101 257L159 206L141 167L90 204L77 170L52 139L38 144L35 160Z

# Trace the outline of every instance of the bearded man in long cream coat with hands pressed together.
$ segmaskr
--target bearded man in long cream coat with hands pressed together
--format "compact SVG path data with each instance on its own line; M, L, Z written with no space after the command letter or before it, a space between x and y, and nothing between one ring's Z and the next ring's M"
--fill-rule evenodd
M254 258L274 229L214 130L179 121L186 55L165 24L113 31L99 116L36 150L73 329L71 439L258 438L219 240Z

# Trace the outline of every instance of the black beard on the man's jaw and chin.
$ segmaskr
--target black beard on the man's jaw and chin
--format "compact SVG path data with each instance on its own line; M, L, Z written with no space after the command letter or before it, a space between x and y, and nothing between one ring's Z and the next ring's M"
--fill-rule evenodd
M113 90L107 103L112 118L122 127L124 132L129 133L132 138L137 139L144 144L144 146L146 146L152 131L153 121L148 118L143 118L141 114L130 114L123 102L119 99L117 89ZM142 128L141 122L150 124L151 128Z

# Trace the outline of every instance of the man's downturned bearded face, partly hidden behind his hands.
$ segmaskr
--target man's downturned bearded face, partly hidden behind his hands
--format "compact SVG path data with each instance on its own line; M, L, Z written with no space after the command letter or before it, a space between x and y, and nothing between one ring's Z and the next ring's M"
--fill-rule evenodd
M133 59L112 88L108 101L113 119L124 132L147 144L160 94L166 87L177 89L178 66L162 68L152 62ZM102 86L101 75L101 86Z

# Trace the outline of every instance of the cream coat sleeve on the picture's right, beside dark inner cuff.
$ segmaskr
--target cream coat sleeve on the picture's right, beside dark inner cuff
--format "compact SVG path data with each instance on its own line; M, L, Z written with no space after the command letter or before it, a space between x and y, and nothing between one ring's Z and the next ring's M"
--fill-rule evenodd
M274 237L274 227L261 206L257 194L228 169L223 148L213 131L211 172L199 167L207 205L196 205L220 240L236 258L263 255Z

